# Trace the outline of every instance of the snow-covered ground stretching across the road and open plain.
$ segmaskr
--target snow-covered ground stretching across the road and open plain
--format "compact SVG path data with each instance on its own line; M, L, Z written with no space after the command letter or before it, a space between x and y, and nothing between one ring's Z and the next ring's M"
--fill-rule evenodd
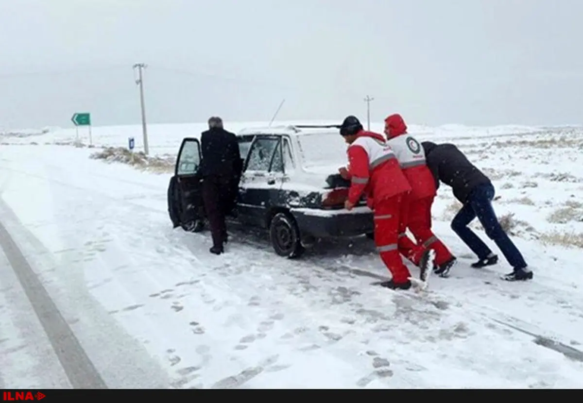
M203 129L151 125L150 153L171 161ZM583 129L409 131L490 175L533 281L500 280L489 240L500 263L469 266L447 186L434 230L459 263L426 296L373 287L388 272L366 238L286 260L232 228L209 254L208 233L171 228L168 169L89 158L128 137L140 150L141 126L93 128L94 148L73 147L75 129L0 135L0 222L110 388L583 387ZM72 387L61 363L0 253L0 387Z

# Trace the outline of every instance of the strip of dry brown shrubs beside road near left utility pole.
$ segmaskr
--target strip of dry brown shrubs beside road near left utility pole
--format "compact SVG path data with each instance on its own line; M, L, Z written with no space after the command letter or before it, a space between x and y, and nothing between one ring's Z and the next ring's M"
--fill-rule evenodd
M121 162L138 169L167 173L174 171L175 158L171 156L157 157L146 155L143 151L132 153L124 147L107 147L90 155L93 160L105 162Z

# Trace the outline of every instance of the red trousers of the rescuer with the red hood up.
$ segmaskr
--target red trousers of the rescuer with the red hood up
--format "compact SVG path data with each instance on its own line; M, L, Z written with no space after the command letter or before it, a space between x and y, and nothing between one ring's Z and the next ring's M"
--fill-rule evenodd
M444 264L453 256L447 246L440 241L439 238L433 231L431 231L431 205L433 204L434 197L426 197L424 199L417 199L411 201L409 204L409 211L407 217L407 226L409 231L412 232L417 241L417 245L420 245L423 249L433 249L436 252L435 263L437 266ZM407 238L409 240L409 238ZM410 241L410 240L409 240ZM419 248L416 246L416 248ZM422 252L423 253L423 252ZM405 253L403 253L405 254ZM415 253L412 253L415 255ZM405 254L414 264L419 264L419 258L417 261L409 258L408 254Z

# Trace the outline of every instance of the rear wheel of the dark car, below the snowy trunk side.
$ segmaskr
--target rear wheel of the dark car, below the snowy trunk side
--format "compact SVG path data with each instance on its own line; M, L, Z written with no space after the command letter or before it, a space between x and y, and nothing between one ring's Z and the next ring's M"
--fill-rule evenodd
M279 256L294 257L300 256L304 252L301 246L300 229L297 228L296 220L286 213L275 214L269 224L269 239Z

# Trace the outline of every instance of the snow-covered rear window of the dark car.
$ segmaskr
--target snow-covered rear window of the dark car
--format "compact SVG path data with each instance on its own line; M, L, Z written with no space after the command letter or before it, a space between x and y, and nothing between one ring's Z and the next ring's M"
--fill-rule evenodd
M347 164L346 147L339 133L314 133L298 137L306 168L323 165L342 167Z

